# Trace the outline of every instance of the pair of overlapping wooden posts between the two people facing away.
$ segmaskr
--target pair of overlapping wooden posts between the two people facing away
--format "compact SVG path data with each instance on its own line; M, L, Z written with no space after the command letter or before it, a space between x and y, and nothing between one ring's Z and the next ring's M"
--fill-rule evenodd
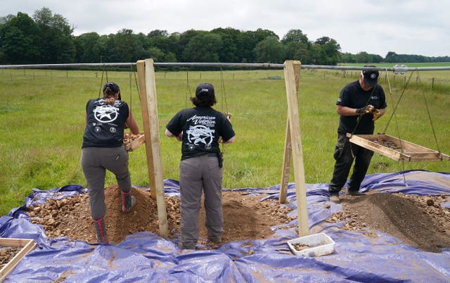
M143 130L146 135L146 153L148 178L152 199L158 206L160 236L168 237L167 211L164 197L164 180L162 177L160 127L158 124L158 103L156 101L155 69L153 59L140 60L136 63L139 80L139 96Z

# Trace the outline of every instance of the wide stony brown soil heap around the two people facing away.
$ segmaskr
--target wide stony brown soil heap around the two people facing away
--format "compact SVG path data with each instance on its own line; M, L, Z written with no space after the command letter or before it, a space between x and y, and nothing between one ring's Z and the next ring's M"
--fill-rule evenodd
M117 184L105 188L107 206L105 225L110 243L120 243L129 234L136 232L147 231L160 234L158 207L156 201L151 198L150 192L133 188L132 194L136 196L136 206L129 213L122 213L120 189ZM290 209L280 206L277 201L260 201L263 197L264 195L245 195L240 191L223 192L224 234L221 244L248 239L269 239L274 234L271 230L272 226L293 220L292 217L287 216ZM179 197L165 196L167 227L169 238L172 239L179 237L179 201ZM47 237L68 237L71 240L89 243L97 241L87 194L63 199L47 199L44 204L27 208L27 210L32 222L44 227ZM205 210L202 204L199 233L200 238L207 239L204 222ZM218 246L207 241L200 241L200 244Z

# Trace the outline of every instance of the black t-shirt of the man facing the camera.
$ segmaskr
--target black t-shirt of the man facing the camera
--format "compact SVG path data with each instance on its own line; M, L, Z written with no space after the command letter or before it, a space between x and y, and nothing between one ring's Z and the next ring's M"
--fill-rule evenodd
M339 99L336 102L336 105L347 106L349 108L361 108L369 104L377 109L387 107L383 87L380 84L376 84L375 87L366 92L361 88L359 80L347 84L341 90ZM359 117L361 117L361 120L358 122ZM373 134L375 124L372 119L373 115L369 113L354 116L340 115L338 133Z

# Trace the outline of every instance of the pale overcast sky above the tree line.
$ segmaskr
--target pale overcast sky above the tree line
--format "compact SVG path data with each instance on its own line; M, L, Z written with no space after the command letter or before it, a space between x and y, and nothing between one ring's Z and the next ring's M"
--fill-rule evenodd
M4 0L5 1L5 0ZM13 0L0 16L43 7L60 14L85 32L117 33L122 29L185 32L232 27L241 31L271 30L280 39L302 30L308 39L330 37L342 52L366 51L383 58L387 52L450 56L448 0Z

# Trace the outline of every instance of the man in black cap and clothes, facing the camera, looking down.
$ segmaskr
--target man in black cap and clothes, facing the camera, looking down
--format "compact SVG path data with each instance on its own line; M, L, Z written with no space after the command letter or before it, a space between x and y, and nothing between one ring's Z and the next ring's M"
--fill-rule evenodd
M349 179L347 192L352 196L361 196L361 182L366 176L371 163L373 151L349 142L347 133L373 134L375 120L386 111L386 98L383 87L378 84L379 73L373 67L361 71L359 80L350 82L340 92L336 102L336 112L340 115L338 142L335 146L335 166L333 178L328 185L330 201L339 203L339 192L347 182L350 168L354 162L352 176Z

